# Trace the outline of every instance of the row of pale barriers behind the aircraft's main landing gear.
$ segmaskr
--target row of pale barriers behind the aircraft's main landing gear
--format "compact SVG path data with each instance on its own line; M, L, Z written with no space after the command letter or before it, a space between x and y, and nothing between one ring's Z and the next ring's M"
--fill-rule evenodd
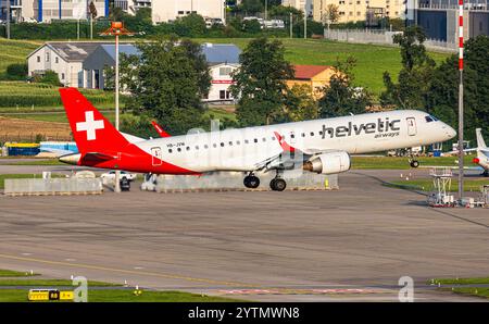
M243 186L244 174L241 172L215 172L202 176L192 175L160 175L145 182L143 190L156 192L186 191L230 191L230 190L269 190L269 182L275 172L256 173L260 187L248 189ZM300 176L284 174L287 182L286 190L334 190L338 189L338 175L303 173Z

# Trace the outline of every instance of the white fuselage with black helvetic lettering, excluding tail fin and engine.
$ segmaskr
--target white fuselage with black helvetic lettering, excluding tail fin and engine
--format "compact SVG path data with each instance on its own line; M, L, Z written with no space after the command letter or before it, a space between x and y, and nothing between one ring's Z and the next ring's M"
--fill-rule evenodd
M303 152L339 150L354 154L425 146L454 136L452 127L427 113L402 110L134 142L151 157L151 165L141 170L141 163L126 164L121 159L117 167L167 174L255 171L285 153L281 141Z

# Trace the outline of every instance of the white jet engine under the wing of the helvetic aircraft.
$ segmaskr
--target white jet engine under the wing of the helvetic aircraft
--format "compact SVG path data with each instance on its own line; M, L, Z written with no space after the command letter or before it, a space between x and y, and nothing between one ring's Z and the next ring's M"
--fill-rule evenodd
M350 166L350 155L347 152L338 151L311 158L311 160L304 162L303 170L322 174L335 174L349 171Z

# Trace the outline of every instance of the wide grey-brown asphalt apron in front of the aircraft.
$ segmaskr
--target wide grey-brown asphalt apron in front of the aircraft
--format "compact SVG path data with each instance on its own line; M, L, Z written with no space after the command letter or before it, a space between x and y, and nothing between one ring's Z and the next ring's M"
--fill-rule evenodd
M489 210L381 185L401 173L351 171L338 191L0 196L0 269L264 301L396 301L411 276L415 300L481 301L425 283L488 275Z

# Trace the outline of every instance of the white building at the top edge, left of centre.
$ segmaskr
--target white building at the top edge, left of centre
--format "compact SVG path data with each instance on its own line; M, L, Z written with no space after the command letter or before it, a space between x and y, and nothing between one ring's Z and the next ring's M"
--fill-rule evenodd
M220 18L225 23L225 0L165 0L153 1L153 24L175 21L190 13L200 14L203 17Z

